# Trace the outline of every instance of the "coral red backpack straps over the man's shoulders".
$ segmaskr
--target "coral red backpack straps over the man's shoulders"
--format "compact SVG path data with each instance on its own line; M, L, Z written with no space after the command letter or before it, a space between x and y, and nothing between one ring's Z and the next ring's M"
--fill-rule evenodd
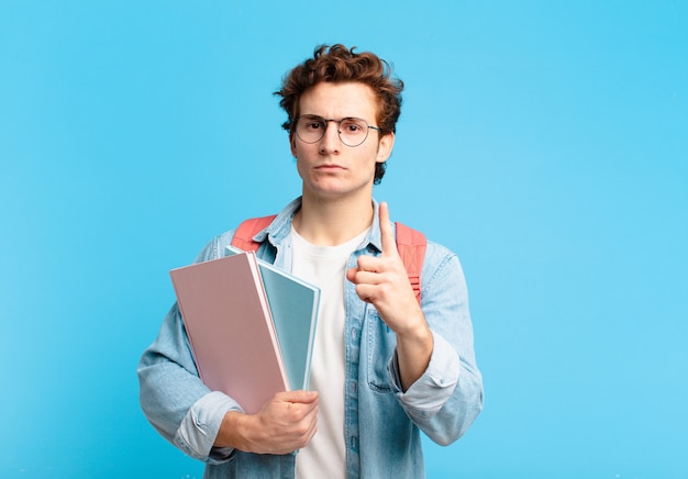
M232 246L245 252L255 252L258 249L260 243L253 241L253 237L266 229L273 220L275 220L275 216L276 215L273 214L243 221L234 232ZM415 231L399 222L395 224L397 226L397 249L399 249L399 256L401 256L403 266L409 275L409 281L415 293L415 299L420 303L421 270L423 268L423 258L425 257L428 241L425 239L425 235L420 231Z

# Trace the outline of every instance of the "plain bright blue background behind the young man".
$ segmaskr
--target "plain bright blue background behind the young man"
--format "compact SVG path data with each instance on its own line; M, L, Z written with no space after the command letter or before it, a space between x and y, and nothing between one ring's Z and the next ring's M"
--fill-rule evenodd
M670 0L2 0L0 476L202 474L136 363L168 269L299 193L271 92L342 42L407 83L376 198L468 279L486 406L429 476L688 477L687 24Z

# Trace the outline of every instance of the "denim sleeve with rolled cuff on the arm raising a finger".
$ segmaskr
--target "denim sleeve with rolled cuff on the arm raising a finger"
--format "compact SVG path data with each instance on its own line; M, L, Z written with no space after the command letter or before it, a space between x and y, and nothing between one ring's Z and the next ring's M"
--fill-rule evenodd
M458 439L482 410L482 378L476 366L468 293L456 255L429 243L432 266L424 269L421 305L433 334L424 374L403 391L396 353L388 369L407 415L432 441Z

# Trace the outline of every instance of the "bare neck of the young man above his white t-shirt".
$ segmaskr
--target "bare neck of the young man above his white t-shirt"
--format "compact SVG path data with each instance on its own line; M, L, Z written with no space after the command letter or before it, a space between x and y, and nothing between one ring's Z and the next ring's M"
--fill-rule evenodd
M322 201L303 196L293 227L309 243L336 246L352 239L373 223L373 199Z

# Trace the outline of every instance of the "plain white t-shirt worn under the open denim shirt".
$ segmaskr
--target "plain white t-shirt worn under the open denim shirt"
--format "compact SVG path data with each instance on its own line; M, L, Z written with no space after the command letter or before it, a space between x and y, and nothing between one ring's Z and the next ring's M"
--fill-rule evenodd
M291 272L321 289L310 388L320 393L318 432L297 454L297 478L345 478L344 281L348 257L369 230L337 246L315 246L291 229Z

